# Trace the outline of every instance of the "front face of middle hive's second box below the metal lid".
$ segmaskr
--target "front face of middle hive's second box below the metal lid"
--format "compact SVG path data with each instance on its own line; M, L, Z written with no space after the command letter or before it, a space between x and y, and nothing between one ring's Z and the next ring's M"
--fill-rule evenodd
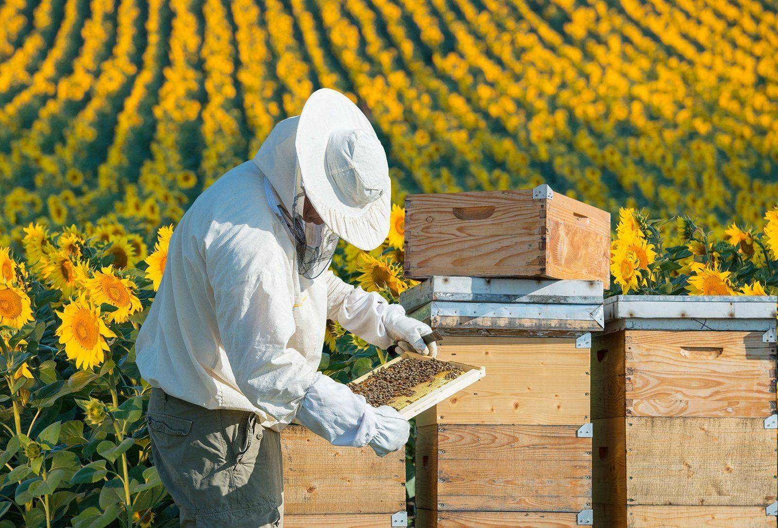
M591 439L576 429L439 425L437 510L591 508Z

